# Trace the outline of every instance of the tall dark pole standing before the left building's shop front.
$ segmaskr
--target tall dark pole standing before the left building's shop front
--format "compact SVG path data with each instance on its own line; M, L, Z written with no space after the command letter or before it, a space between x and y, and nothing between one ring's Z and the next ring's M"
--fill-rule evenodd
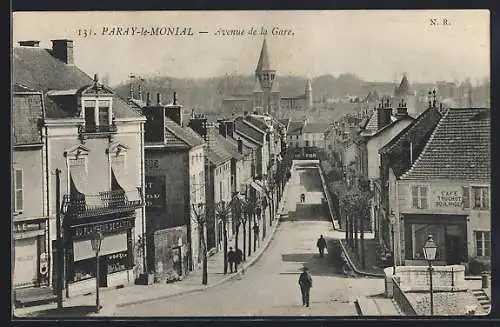
M56 243L57 243L57 307L63 307L64 244L61 237L61 170L56 169Z

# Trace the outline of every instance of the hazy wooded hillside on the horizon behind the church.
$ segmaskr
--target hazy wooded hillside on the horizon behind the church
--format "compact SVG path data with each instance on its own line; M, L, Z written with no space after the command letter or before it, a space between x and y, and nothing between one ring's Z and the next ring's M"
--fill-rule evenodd
M280 76L278 77L279 87L282 96L304 94L306 78L300 76ZM228 95L250 94L254 88L255 77L244 75L230 75L212 78L180 79L171 77L155 77L141 81L143 98L146 93L151 93L152 101L156 101L156 94L162 95L162 102L170 102L173 91L177 92L177 98L186 111L195 109L197 112L215 114L221 108L222 100ZM322 75L312 80L313 96L316 103L324 103L331 98L341 98L346 95L358 96L363 99L368 92L376 90L379 95L391 94L394 91L395 83L391 82L367 82L352 74L342 74L338 77L332 75ZM128 97L130 83L122 83L114 87L116 92L123 97ZM433 84L411 83L411 88L420 95L425 96L433 88ZM138 84L134 84L137 96ZM474 92L478 97L484 97L486 93L484 87ZM337 105L336 107L340 107ZM351 111L351 105L343 106L341 111ZM337 108L336 108L337 109ZM340 108L339 108L340 109Z

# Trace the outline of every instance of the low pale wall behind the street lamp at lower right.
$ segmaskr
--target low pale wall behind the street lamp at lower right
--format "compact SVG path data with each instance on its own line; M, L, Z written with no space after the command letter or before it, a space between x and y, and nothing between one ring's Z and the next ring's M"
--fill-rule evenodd
M433 266L432 287L436 292L466 291L465 267L462 265ZM387 270L386 270L387 274ZM428 292L429 270L427 266L398 266L396 276L405 292Z

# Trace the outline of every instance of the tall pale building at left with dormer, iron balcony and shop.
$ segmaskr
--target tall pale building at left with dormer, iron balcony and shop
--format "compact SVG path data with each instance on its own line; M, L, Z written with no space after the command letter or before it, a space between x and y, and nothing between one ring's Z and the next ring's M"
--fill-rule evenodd
M52 260L52 272L61 271L62 265L64 275L55 278L64 278L70 296L93 291L91 239L100 231L100 286L133 282L147 269L141 250L145 119L97 75L92 79L78 69L73 41L53 40L51 50L37 43L21 45L13 52L13 83L41 92L45 109L47 252L65 254L64 264ZM56 246L56 169L61 172L64 248Z

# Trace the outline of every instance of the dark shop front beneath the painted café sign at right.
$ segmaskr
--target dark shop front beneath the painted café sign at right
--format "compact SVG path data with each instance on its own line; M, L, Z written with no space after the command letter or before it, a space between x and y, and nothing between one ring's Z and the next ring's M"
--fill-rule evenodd
M436 265L467 262L467 216L446 214L405 214L405 265L427 264L423 246L432 235L438 249Z

